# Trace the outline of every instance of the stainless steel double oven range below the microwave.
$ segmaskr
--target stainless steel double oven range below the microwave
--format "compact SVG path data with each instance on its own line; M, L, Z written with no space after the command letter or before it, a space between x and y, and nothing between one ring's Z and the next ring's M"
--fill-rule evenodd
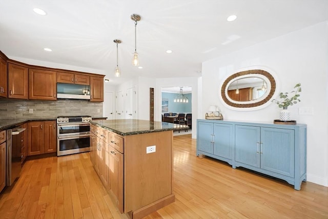
M91 116L57 117L57 156L90 151Z

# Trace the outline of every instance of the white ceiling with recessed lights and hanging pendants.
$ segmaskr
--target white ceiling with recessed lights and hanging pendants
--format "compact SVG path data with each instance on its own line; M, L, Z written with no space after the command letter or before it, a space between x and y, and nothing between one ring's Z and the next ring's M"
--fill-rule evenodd
M46 16L37 15L41 8ZM134 21L137 52L132 66ZM227 17L236 14L234 22ZM0 0L0 50L28 58L90 69L112 84L136 76L201 76L201 63L235 50L328 20L321 1L12 1ZM121 77L115 78L116 44ZM45 52L43 48L51 48ZM167 54L166 50L173 53ZM268 51L269 52L269 51Z

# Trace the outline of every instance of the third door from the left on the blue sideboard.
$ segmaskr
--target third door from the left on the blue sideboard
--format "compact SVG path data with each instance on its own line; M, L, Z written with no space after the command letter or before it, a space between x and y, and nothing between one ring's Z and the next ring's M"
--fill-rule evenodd
M260 127L235 126L235 161L260 167Z

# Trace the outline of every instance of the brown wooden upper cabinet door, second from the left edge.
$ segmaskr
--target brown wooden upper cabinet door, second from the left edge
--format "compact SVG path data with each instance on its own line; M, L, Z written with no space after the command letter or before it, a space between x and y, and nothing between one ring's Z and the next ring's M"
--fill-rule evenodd
M28 86L28 68L8 63L8 97L17 99L28 99Z

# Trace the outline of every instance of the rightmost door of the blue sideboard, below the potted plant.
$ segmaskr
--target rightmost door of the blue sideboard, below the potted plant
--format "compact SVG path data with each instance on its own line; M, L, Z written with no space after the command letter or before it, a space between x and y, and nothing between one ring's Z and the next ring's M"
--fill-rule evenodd
M294 177L294 130L261 128L261 168Z

